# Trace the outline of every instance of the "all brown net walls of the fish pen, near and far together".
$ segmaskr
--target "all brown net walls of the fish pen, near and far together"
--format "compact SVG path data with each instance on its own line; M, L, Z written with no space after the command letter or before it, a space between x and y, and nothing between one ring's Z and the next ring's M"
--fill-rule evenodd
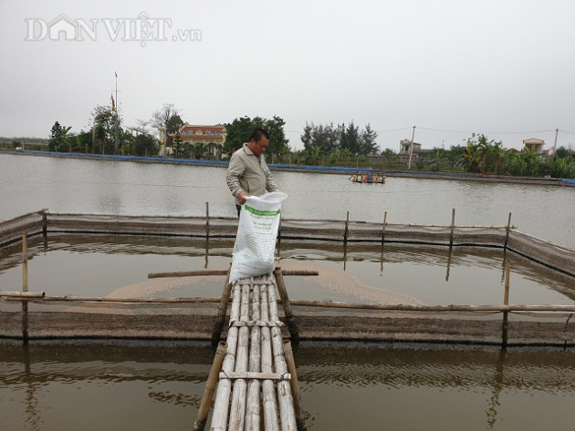
M0 223L0 245L34 235L162 235L234 239L237 219L26 214ZM476 245L517 252L575 276L575 251L539 240L511 226L424 226L364 221L282 220L278 241L337 241L356 244ZM15 247L12 245L11 247ZM37 297L7 300L0 292L0 337L126 337L209 339L217 301L207 298ZM16 292L17 293L17 292ZM16 300L16 301L15 301ZM214 300L212 298L212 300ZM106 302L109 301L109 302ZM433 343L575 344L573 306L508 307L373 305L294 302L301 339L365 339ZM368 304L369 305L369 304ZM26 328L26 334L25 334Z

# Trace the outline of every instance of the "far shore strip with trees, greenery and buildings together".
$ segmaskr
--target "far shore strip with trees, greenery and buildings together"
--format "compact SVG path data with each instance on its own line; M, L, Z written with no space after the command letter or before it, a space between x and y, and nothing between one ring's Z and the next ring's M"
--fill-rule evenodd
M173 163L226 163L249 139L252 130L263 128L273 139L266 151L273 169L302 169L348 173L353 171L409 177L457 178L463 180L536 181L538 184L575 182L575 150L543 149L541 139L524 139L521 150L507 149L502 141L472 133L448 149L423 149L422 144L403 139L398 152L381 149L378 133L367 124L306 123L300 135L303 149L292 149L286 138L283 118L235 118L215 126L192 126L180 117L180 110L166 103L149 120L124 127L115 106L98 106L92 112L91 127L78 133L58 121L48 139L0 137L0 151L57 153L72 157L162 161ZM159 138L154 131L159 131ZM413 132L415 127L413 126ZM555 143L559 128L556 129ZM449 144L447 144L449 145Z

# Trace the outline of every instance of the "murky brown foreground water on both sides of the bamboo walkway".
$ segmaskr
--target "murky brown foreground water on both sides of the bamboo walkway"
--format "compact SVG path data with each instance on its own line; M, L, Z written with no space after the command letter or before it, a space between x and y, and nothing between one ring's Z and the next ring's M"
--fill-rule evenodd
M212 359L209 343L0 342L0 426L189 429ZM549 421L568 430L575 420L572 350L302 343L296 362L316 431L518 431Z

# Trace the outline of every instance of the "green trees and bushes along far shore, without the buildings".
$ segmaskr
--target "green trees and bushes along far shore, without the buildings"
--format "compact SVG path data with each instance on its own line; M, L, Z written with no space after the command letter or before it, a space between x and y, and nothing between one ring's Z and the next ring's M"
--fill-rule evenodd
M88 131L71 133L70 128L58 121L50 130L50 151L89 152L158 156L161 148L171 149L173 158L204 159L203 143L184 144L179 135L184 121L179 109L164 104L146 120L137 120L134 127L124 127L120 114L110 107L97 106L92 112ZM290 163L326 166L354 166L357 168L405 169L405 157L392 149L380 149L378 134L369 124L364 128L349 124L306 123L300 135L303 149L289 147L283 118L240 117L223 124L226 130L222 149L226 157L247 142L255 128L264 128L270 134L267 159L272 163ZM154 135L162 128L165 142ZM17 145L18 141L15 141ZM480 174L525 177L575 177L575 152L560 147L552 155L541 155L535 150L504 149L501 141L487 139L485 135L472 135L464 145L450 149L435 148L420 152L413 159L413 169L474 172Z

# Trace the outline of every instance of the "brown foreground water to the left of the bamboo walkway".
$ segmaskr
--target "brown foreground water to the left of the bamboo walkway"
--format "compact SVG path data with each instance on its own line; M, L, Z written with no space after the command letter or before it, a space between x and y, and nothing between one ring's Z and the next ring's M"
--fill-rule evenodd
M187 429L200 404L212 353L209 345L197 343L8 342L0 343L0 357L2 429L56 430L73 424L118 429L116 406L131 416L132 426L142 422L138 428L154 429L151 424L159 426L162 420L146 413L165 417L170 414L166 405L182 412L176 424ZM87 421L86 409L95 420Z

